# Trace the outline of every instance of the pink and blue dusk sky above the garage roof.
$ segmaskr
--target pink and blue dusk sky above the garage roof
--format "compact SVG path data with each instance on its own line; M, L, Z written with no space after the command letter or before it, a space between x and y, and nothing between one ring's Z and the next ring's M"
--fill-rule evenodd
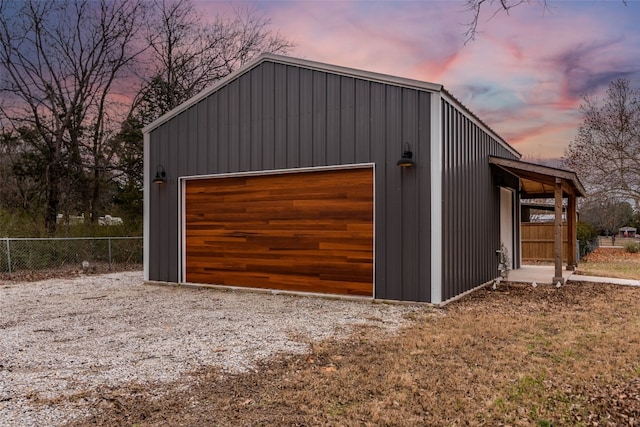
M549 0L471 20L450 1L196 1L205 16L252 5L296 44L291 56L443 84L529 158L558 158L585 92L640 88L640 1Z

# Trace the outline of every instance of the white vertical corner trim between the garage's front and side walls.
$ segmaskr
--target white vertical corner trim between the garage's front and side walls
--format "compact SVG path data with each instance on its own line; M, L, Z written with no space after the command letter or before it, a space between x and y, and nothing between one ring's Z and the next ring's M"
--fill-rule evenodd
M442 302L442 97L431 95L431 303Z

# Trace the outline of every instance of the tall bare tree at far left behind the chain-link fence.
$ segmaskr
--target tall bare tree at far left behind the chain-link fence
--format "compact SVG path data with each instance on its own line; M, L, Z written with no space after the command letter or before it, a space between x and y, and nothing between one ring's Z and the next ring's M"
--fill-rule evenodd
M96 216L109 132L126 113L114 95L144 49L143 9L141 0L0 0L0 120L35 132L51 233L61 197L76 188Z

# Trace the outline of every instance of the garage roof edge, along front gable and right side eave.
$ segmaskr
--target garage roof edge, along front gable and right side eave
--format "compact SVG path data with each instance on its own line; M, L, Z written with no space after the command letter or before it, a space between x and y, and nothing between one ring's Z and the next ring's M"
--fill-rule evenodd
M437 83L430 83L421 80L409 79L405 77L392 76L388 74L375 73L372 71L359 70L355 68L343 67L339 65L331 65L322 62L310 61L307 59L293 58L290 56L284 55L276 55L273 53L263 53L257 58L249 61L244 66L229 74L227 77L219 80L214 85L204 89L202 92L193 96L192 98L186 100L182 104L175 107L173 110L167 112L166 114L160 116L147 126L142 129L143 133L149 133L153 131L158 126L162 125L166 121L171 118L179 115L183 111L189 109L193 105L197 104L201 100L205 99L207 96L216 92L220 88L226 86L231 81L237 79L243 74L248 73L252 69L256 68L260 64L264 62L274 62L282 65L291 65L299 68L306 68L309 70L315 71L323 71L327 73L337 74L341 76L353 77L357 79L368 80L372 82L389 84L393 86L400 86L409 89L416 89L426 92L438 92L440 93L449 103L454 104L458 108L464 111L464 113L473 120L477 125L487 131L493 138L495 138L498 142L505 146L509 151L512 152L517 157L521 157L522 155L515 148L509 145L500 135L498 135L490 126L488 126L485 122L483 122L478 116L476 116L469 108L467 108L462 102L456 99L452 94L450 94L447 90L444 89L444 86Z

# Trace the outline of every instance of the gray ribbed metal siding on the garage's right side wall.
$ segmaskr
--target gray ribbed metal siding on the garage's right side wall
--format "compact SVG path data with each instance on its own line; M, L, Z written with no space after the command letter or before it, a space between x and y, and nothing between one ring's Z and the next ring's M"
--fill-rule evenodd
M500 194L488 157L516 157L446 100L442 135L442 297L446 300L498 275Z

